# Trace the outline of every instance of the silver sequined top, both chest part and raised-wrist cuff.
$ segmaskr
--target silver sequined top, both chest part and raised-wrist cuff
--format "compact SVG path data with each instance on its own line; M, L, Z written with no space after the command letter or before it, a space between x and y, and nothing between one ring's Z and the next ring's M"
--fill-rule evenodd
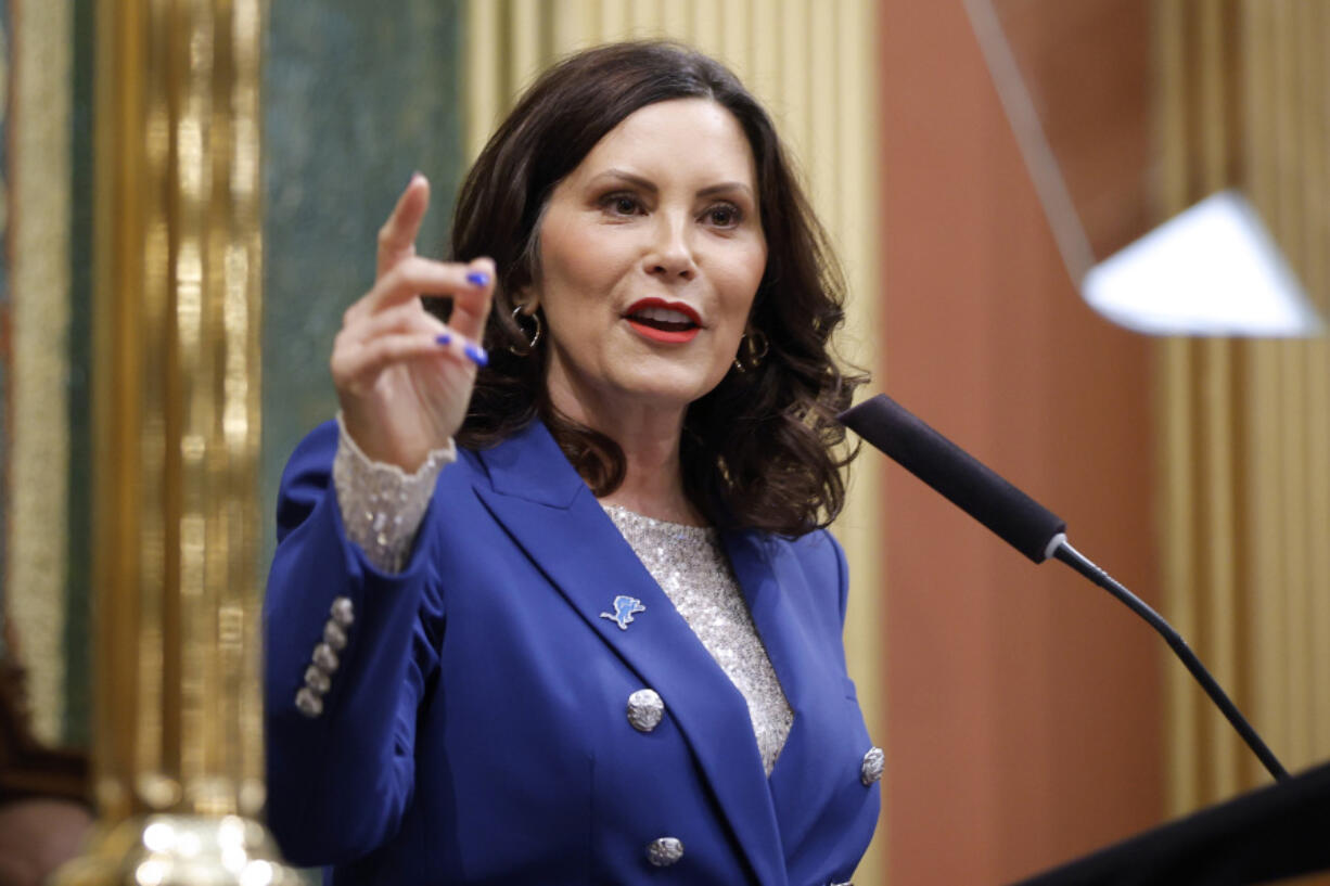
M338 426L332 480L347 537L378 568L400 572L434 494L435 479L456 458L456 450L450 440L448 446L431 452L420 470L407 474L368 459L346 432L340 414ZM602 507L743 696L762 766L770 776L790 734L794 712L730 571L720 533L712 528L653 520L616 506Z

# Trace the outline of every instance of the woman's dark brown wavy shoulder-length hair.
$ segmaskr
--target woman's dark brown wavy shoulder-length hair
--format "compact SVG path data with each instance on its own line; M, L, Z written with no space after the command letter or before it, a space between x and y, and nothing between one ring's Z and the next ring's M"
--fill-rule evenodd
M537 345L523 354L529 321L523 330L512 313L515 297L539 279L540 220L555 186L625 117L672 98L716 101L743 128L767 243L749 317L767 353L689 406L684 488L717 525L801 535L841 511L841 470L854 455L834 415L864 378L843 371L829 347L845 319L845 282L766 112L729 69L684 45L621 43L565 59L527 90L471 168L451 257L489 255L499 279L484 337L491 362L458 442L484 448L541 419L597 496L622 482L618 444L551 404L548 353Z

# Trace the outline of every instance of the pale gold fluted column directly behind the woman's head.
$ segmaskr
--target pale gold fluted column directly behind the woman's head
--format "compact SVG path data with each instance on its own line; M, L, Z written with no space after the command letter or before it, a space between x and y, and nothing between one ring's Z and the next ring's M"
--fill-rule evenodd
M871 0L471 0L467 156L476 157L513 98L556 59L592 44L668 37L725 61L771 112L845 265L850 299L839 346L880 366L878 310L878 102ZM882 655L882 459L854 466L837 536L850 560L850 674L874 734L886 734ZM890 749L888 749L890 753ZM887 805L879 839L855 874L886 878Z

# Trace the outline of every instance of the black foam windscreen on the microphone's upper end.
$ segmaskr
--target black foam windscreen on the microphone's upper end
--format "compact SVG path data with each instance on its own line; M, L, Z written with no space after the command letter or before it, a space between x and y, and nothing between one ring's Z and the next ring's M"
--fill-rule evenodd
M1035 563L1067 523L886 394L837 416Z

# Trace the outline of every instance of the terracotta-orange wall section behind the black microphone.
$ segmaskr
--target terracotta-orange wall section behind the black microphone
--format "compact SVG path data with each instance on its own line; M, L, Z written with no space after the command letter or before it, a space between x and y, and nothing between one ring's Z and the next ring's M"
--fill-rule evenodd
M960 0L883 0L880 29L879 386L1157 603L1150 349L1067 278ZM896 466L884 500L891 882L1005 882L1157 823L1158 637Z

